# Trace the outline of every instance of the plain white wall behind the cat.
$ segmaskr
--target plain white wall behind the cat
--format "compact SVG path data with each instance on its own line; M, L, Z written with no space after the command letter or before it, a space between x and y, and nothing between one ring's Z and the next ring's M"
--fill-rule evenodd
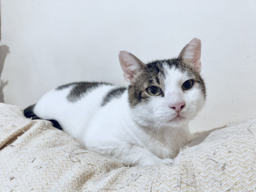
M125 85L119 50L147 62L177 56L197 37L207 102L191 130L256 116L255 0L0 2L6 103L26 107L72 81Z

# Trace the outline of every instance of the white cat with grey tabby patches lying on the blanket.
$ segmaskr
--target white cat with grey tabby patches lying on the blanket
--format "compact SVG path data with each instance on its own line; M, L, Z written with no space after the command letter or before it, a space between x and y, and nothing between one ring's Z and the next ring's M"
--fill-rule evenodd
M128 87L65 84L26 108L24 115L51 119L85 148L125 166L173 163L191 139L189 120L206 99L200 76L201 40L193 38L177 58L144 64L120 51L119 62Z

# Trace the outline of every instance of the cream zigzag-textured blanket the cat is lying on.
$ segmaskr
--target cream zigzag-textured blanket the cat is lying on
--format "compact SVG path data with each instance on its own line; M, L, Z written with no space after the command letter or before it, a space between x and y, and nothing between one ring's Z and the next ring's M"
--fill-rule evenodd
M125 167L0 104L0 191L255 191L256 119L206 132L172 166Z

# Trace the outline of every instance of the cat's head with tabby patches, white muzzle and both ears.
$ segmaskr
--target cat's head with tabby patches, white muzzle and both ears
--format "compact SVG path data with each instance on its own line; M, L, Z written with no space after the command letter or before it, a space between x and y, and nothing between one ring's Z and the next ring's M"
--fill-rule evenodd
M129 105L138 124L179 127L195 117L206 98L200 58L201 41L197 38L177 58L148 64L127 51L120 51L124 78L130 82Z

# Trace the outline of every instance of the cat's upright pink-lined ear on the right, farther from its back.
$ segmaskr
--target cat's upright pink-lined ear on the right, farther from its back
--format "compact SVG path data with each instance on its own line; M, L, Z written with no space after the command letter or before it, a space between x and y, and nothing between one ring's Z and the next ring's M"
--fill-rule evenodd
M179 57L183 62L189 63L197 72L201 71L201 40L193 38L180 52Z

